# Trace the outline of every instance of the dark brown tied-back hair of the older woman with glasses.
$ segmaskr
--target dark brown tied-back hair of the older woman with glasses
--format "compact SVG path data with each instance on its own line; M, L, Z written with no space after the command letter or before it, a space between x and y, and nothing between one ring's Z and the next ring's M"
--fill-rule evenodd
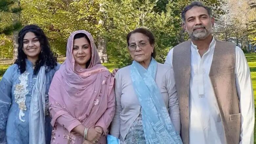
M145 28L137 28L137 29L135 29L135 30L129 32L129 34L126 36L126 40L127 40L128 46L130 45L130 44L129 44L130 37L131 37L131 35L134 34L134 33L142 33L143 35L147 36L148 39L149 39L150 45L155 46L155 37L154 37L153 33L152 33L151 31L145 29ZM155 48L155 47L154 47L154 49L153 49L153 53L151 54L151 56L152 56L153 58L155 58L155 57L157 56L157 52L156 52L156 48Z

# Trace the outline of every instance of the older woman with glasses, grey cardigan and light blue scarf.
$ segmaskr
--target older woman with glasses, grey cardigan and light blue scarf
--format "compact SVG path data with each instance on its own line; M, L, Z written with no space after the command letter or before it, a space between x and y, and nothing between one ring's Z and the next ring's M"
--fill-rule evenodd
M174 73L154 58L154 35L138 28L127 35L133 63L118 70L111 134L122 144L181 144Z

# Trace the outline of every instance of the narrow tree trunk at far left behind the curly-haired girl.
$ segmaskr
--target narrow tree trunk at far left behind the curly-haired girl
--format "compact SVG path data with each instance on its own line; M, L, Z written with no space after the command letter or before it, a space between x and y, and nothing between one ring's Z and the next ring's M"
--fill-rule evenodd
M20 1L18 0L18 6L20 6ZM18 12L14 18L13 21L17 21L20 19L20 12ZM15 60L18 58L18 31L13 32L12 42L13 42L13 56L12 56L12 63L15 62Z

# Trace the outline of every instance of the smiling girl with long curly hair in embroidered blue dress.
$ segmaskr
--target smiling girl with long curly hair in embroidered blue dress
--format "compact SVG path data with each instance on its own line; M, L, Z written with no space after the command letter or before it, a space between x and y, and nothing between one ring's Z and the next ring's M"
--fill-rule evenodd
M59 65L42 29L18 35L18 59L0 82L0 143L50 144L48 90Z

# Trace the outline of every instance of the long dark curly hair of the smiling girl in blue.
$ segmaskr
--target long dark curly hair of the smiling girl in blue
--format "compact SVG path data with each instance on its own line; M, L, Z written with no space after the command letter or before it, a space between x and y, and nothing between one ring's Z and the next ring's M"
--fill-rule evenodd
M18 68L20 70L20 73L23 73L26 71L26 58L27 55L23 52L23 39L26 33L32 32L34 33L41 46L41 53L38 56L38 60L35 62L35 68L34 68L34 74L37 74L40 70L41 66L46 65L48 66L46 68L46 72L49 72L51 69L53 69L57 65L57 58L53 56L53 52L50 49L50 44L47 40L47 37L45 36L43 30L38 27L37 25L31 24L26 25L23 27L18 35L18 58L15 61L15 64L18 65Z

